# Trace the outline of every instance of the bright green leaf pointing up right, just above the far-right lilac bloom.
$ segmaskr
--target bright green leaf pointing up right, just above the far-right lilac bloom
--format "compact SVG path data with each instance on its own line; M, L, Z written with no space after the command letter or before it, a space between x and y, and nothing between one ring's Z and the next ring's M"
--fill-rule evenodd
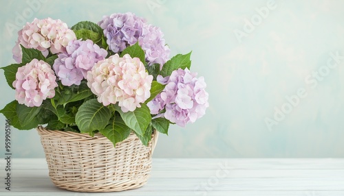
M191 60L190 60L191 52L182 55L178 54L171 58L171 60L167 61L164 66L162 66L162 70L160 71L160 75L163 77L166 77L168 75L171 75L172 71L175 71L177 69L190 69L191 66Z

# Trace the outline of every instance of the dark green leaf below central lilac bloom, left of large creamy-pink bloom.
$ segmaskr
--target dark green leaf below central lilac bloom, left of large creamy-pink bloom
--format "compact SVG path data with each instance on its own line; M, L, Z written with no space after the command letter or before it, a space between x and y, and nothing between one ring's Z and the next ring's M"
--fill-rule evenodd
M74 93L74 91L76 92ZM86 82L81 82L79 86L65 86L61 92L61 96L58 99L57 104L61 105L73 101L79 101L91 95L94 94L92 93L91 89L89 89Z

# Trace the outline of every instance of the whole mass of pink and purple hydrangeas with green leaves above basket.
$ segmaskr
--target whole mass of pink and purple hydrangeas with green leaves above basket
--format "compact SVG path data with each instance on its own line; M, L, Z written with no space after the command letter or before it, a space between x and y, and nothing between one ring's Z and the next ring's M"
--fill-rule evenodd
M17 64L3 69L15 100L0 110L19 130L100 132L114 145L133 131L144 145L205 114L204 77L191 53L169 58L160 28L130 12L83 21L70 29L34 19L18 32Z

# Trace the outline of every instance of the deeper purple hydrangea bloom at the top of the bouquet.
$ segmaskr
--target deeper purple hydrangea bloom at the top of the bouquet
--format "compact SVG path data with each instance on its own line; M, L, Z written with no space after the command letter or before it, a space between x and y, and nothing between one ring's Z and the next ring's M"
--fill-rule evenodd
M103 16L98 25L104 29L109 49L117 53L138 42L144 22L144 19L127 12Z

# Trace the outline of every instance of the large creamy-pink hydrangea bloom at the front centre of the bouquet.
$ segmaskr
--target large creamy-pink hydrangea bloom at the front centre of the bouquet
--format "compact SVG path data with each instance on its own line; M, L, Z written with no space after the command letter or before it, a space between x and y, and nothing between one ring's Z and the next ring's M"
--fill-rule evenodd
M87 73L87 86L104 106L117 103L123 112L140 108L150 96L153 76L148 75L139 58L116 53L100 60Z

